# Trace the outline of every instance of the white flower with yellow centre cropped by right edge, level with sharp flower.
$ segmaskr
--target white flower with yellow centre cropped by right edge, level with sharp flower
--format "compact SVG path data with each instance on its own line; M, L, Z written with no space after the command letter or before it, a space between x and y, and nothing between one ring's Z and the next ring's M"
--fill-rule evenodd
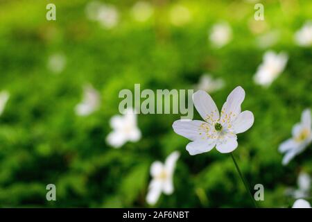
M302 112L301 122L296 123L292 130L293 137L279 145L279 152L285 153L282 164L286 165L296 155L302 153L312 141L311 111Z

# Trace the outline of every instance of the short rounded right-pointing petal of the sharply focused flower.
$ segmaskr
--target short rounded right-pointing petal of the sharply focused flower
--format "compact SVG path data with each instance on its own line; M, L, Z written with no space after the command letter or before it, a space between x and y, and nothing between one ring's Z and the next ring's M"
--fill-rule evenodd
M250 111L244 111L234 120L233 127L235 133L243 133L252 127L254 123L254 114Z

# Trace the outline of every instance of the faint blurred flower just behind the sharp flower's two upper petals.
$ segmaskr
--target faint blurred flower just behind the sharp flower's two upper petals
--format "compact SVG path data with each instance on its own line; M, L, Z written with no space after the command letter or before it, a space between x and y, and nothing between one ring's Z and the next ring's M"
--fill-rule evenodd
M225 83L222 78L212 78L209 74L203 74L200 77L199 83L196 86L198 90L204 90L205 92L211 93L216 92L224 87Z

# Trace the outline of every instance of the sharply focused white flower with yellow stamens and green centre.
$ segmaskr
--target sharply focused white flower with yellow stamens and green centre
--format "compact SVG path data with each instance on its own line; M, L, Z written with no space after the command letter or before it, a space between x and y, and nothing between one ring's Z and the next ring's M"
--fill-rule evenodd
M242 87L236 87L227 96L221 113L211 96L202 90L193 94L193 103L202 119L177 120L173 130L193 142L187 144L190 155L211 151L216 146L220 153L231 153L238 146L238 133L248 130L254 123L254 115L250 111L241 112L241 103L245 99Z

